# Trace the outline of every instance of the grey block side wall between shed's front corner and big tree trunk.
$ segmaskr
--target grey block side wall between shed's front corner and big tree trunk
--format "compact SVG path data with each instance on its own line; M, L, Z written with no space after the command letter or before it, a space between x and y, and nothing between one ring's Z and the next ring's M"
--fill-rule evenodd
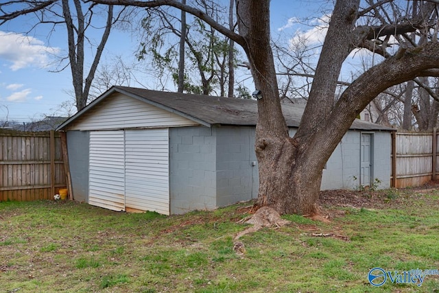
M217 139L217 206L257 197L254 127L220 126L213 131Z

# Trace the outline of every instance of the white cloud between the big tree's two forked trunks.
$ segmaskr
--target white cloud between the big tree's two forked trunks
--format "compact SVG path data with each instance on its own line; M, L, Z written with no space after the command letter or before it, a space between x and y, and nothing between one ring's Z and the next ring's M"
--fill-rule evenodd
M298 31L296 35L289 40L292 45L303 44L308 46L322 45L324 38L327 36L330 16L322 16L320 19L311 21L314 27L306 31Z

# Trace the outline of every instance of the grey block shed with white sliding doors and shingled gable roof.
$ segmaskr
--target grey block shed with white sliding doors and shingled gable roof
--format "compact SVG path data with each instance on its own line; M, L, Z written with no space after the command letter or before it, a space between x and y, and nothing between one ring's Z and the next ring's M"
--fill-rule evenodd
M283 104L291 135L305 105ZM113 86L67 119L73 198L169 215L257 197L257 103ZM323 171L322 189L390 187L392 128L356 120Z

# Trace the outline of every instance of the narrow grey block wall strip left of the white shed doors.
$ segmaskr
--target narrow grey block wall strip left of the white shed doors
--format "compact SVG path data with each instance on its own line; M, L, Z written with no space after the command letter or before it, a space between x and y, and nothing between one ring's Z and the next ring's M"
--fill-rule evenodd
M73 199L88 202L88 157L90 132L71 130L67 132L67 152Z

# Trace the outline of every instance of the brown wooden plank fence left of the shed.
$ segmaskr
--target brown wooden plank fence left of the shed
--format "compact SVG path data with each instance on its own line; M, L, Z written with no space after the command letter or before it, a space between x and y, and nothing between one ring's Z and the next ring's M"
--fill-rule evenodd
M0 201L54 198L65 188L60 134L0 132Z

